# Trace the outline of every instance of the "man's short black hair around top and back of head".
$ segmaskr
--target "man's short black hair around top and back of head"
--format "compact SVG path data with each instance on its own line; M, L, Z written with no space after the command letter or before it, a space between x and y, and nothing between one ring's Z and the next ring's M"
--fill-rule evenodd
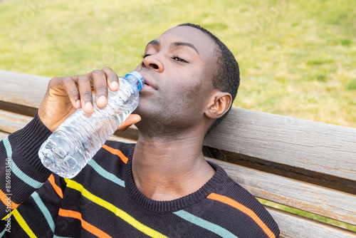
M219 38L214 36L213 33L210 31L204 29L203 27L196 25L196 24L191 24L191 23L185 23L185 24L179 24L178 26L191 26L194 27L195 29L199 29L200 31L206 33L208 36L210 36L211 39L216 43L218 48L216 48L216 73L212 78L213 82L213 87L216 89L221 90L221 92L226 92L230 93L232 97L232 101L234 102L237 94L237 90L239 90L240 86L240 70L239 70L239 63L237 63L236 58L233 53L225 46L224 43L222 43ZM232 103L231 103L232 106ZM221 117L218 118L213 125L211 125L211 128L215 128L216 125L218 125L221 120L225 118L225 116L229 113L231 107L229 110ZM208 133L209 133L208 131Z

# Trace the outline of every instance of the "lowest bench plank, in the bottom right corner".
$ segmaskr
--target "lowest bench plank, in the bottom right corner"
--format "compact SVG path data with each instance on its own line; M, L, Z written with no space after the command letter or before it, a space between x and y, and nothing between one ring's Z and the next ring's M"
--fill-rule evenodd
M316 222L289 212L283 212L272 207L266 207L276 220L281 237L285 238L355 238L356 233L346 229Z

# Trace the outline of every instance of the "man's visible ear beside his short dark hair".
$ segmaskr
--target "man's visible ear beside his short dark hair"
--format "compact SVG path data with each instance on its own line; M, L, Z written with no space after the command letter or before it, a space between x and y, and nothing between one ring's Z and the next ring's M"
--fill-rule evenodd
M205 110L207 118L221 118L231 107L232 97L230 93L221 92L214 89L209 99L208 107Z

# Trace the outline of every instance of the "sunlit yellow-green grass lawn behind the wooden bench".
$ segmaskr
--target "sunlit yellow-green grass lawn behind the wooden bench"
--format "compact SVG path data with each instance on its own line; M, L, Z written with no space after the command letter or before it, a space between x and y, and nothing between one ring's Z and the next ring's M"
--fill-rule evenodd
M239 61L234 106L356 128L355 0L0 1L0 69L122 76L147 42L185 22Z

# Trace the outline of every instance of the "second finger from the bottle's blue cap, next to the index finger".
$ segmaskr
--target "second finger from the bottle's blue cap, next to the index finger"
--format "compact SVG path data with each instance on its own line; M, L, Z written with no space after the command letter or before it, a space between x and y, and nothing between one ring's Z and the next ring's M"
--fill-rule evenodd
M103 71L96 70L90 74L93 81L95 101L99 108L105 108L108 105L108 83Z

